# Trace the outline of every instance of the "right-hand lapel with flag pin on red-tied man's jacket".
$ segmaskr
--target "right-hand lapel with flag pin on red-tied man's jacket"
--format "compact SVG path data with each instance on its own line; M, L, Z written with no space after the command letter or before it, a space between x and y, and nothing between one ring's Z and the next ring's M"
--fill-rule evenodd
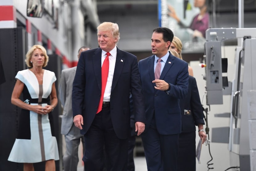
M120 74L122 73L123 66L125 64L125 58L123 56L123 53L121 50L117 48L117 58L116 58L116 64L115 64L115 70L114 70L114 75L113 75L113 81L112 81L112 88L111 92L114 90L118 79L120 77Z

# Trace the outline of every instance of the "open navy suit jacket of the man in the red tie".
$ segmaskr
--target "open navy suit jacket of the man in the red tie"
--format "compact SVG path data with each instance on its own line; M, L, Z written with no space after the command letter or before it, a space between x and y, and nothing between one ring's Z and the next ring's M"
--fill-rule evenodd
M81 53L72 89L73 116L84 118L81 134L85 134L96 115L101 96L101 49ZM117 58L110 95L110 114L118 138L130 136L130 92L134 101L135 122L146 121L142 87L136 56L117 48Z

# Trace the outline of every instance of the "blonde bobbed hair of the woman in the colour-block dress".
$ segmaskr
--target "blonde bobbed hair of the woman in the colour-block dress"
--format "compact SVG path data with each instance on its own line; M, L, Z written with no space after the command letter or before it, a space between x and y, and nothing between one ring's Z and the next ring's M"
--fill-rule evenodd
M41 49L43 51L43 55L44 55L43 67L47 66L47 63L49 61L49 57L47 55L46 49L41 45L34 45L30 48L30 50L26 54L25 62L27 64L27 67L31 67L31 68L33 67L33 64L30 62L30 60L32 58L34 50L36 50L36 49Z

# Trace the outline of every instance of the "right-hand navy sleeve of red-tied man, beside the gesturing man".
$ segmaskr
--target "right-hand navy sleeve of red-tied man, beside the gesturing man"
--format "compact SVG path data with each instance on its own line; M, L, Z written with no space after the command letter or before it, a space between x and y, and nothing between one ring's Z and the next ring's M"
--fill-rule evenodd
M134 58L131 69L130 90L133 99L133 113L135 122L146 122L145 105L142 95L142 85L139 75L137 58Z

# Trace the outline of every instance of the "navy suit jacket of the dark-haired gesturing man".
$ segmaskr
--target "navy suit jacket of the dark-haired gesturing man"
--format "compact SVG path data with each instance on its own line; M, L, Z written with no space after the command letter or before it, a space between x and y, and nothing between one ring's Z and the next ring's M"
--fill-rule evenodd
M170 91L154 88L155 55L139 61L139 72L146 107L147 131L155 112L156 128L159 134L171 135L181 132L180 101L188 93L188 64L169 53L167 62L160 75L160 80L169 83ZM135 103L134 103L135 104Z

